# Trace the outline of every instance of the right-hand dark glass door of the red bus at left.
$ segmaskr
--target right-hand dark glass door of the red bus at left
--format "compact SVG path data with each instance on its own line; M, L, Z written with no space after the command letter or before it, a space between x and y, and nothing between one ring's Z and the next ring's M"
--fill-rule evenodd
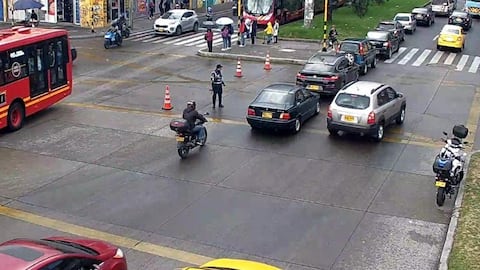
M67 38L49 40L47 48L48 68L50 71L50 89L55 90L67 84Z

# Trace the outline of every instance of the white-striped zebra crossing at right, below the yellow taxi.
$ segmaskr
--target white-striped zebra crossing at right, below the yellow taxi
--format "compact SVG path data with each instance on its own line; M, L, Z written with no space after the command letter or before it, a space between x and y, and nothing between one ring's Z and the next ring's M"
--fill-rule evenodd
M455 71L477 73L480 67L480 56L459 54L449 51L435 51L400 47L398 53L384 61L386 64L411 65L414 67L444 64L454 66Z

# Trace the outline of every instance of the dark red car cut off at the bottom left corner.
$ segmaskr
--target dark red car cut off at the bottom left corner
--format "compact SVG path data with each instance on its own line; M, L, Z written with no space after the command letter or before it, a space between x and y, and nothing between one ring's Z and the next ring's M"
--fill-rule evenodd
M0 244L2 269L127 270L123 251L100 240L50 237L14 239Z

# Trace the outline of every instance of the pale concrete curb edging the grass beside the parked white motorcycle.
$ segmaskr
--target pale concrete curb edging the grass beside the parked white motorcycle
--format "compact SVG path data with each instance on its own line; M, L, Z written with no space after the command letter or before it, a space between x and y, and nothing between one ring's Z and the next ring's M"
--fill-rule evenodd
M468 176L468 171L470 167L470 159L473 154L479 153L480 150L471 152L468 155L467 161L465 162L465 177ZM447 270L448 269L448 258L450 257L450 252L452 251L453 247L453 240L455 236L455 231L458 225L458 219L460 218L460 210L462 209L462 202L463 202L463 194L465 193L465 182L467 179L464 179L461 184L460 188L458 189L457 198L455 199L455 206L453 208L452 217L450 218L450 223L448 225L447 230L447 237L445 238L445 244L443 245L442 255L440 256L440 264L438 266L439 270Z

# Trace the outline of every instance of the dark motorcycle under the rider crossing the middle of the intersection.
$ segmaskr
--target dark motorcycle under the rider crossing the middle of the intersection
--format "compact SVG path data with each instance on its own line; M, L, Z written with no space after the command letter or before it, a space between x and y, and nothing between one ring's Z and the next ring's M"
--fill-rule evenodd
M206 113L205 115L208 115ZM177 152L180 158L185 159L190 150L197 146L203 147L207 142L207 129L203 126L203 122L197 121L196 126L204 129L205 138L200 141L188 128L188 122L185 119L174 119L170 122L170 129L175 131L175 140L177 141Z

